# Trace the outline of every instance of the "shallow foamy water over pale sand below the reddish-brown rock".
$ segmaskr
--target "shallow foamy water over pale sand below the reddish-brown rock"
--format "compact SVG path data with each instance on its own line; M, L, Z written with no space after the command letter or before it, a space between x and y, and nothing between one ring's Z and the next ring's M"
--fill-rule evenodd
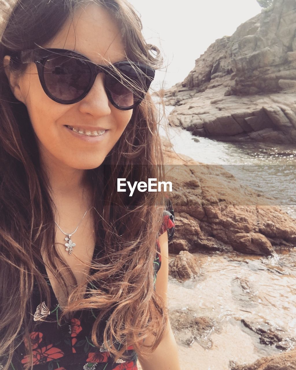
M295 346L295 251L273 258L219 252L195 256L200 273L194 281L169 279L169 310L193 309L196 316L215 320L218 330L190 348L184 345L190 331L175 334L180 357L185 359L182 369L226 370L230 361L247 364L282 352L274 344L260 344L259 335L246 328L241 319L275 330L287 348Z

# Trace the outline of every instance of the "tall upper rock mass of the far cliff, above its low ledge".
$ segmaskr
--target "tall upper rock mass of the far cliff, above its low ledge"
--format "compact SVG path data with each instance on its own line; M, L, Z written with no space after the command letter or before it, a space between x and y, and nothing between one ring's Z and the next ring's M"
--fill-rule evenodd
M211 44L195 61L182 86L205 91L216 84L216 78L234 73L233 94L249 94L254 88L257 92L281 90L280 79L296 79L296 57L291 54L296 42L295 15L294 0L275 0L272 9L241 24L232 36Z

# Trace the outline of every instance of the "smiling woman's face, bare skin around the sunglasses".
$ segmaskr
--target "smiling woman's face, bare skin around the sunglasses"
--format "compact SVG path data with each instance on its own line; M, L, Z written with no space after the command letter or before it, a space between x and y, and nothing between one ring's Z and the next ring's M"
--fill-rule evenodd
M73 23L67 21L55 37L42 46L75 50L103 65L126 59L117 24L105 9L95 4L77 9ZM28 64L18 81L19 96L16 98L27 107L45 162L75 169L96 168L114 147L131 119L132 110L118 110L110 103L102 77L102 73L97 75L83 100L60 104L43 91L36 65ZM100 141L93 141L93 138L75 134L66 125L80 131L97 131L97 128L106 131Z

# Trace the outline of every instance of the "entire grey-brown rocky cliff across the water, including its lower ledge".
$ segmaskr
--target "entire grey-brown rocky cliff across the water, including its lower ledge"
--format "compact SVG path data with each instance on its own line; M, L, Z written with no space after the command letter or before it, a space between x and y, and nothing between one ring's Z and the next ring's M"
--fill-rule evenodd
M296 1L211 44L185 80L166 91L170 120L196 136L296 142Z

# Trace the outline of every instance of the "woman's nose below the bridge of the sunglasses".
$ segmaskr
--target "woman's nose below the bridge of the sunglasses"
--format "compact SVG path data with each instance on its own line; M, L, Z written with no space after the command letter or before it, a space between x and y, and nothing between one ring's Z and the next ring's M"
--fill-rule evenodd
M104 73L97 74L90 91L79 103L79 109L83 113L94 116L105 116L111 113L111 103L104 87Z

